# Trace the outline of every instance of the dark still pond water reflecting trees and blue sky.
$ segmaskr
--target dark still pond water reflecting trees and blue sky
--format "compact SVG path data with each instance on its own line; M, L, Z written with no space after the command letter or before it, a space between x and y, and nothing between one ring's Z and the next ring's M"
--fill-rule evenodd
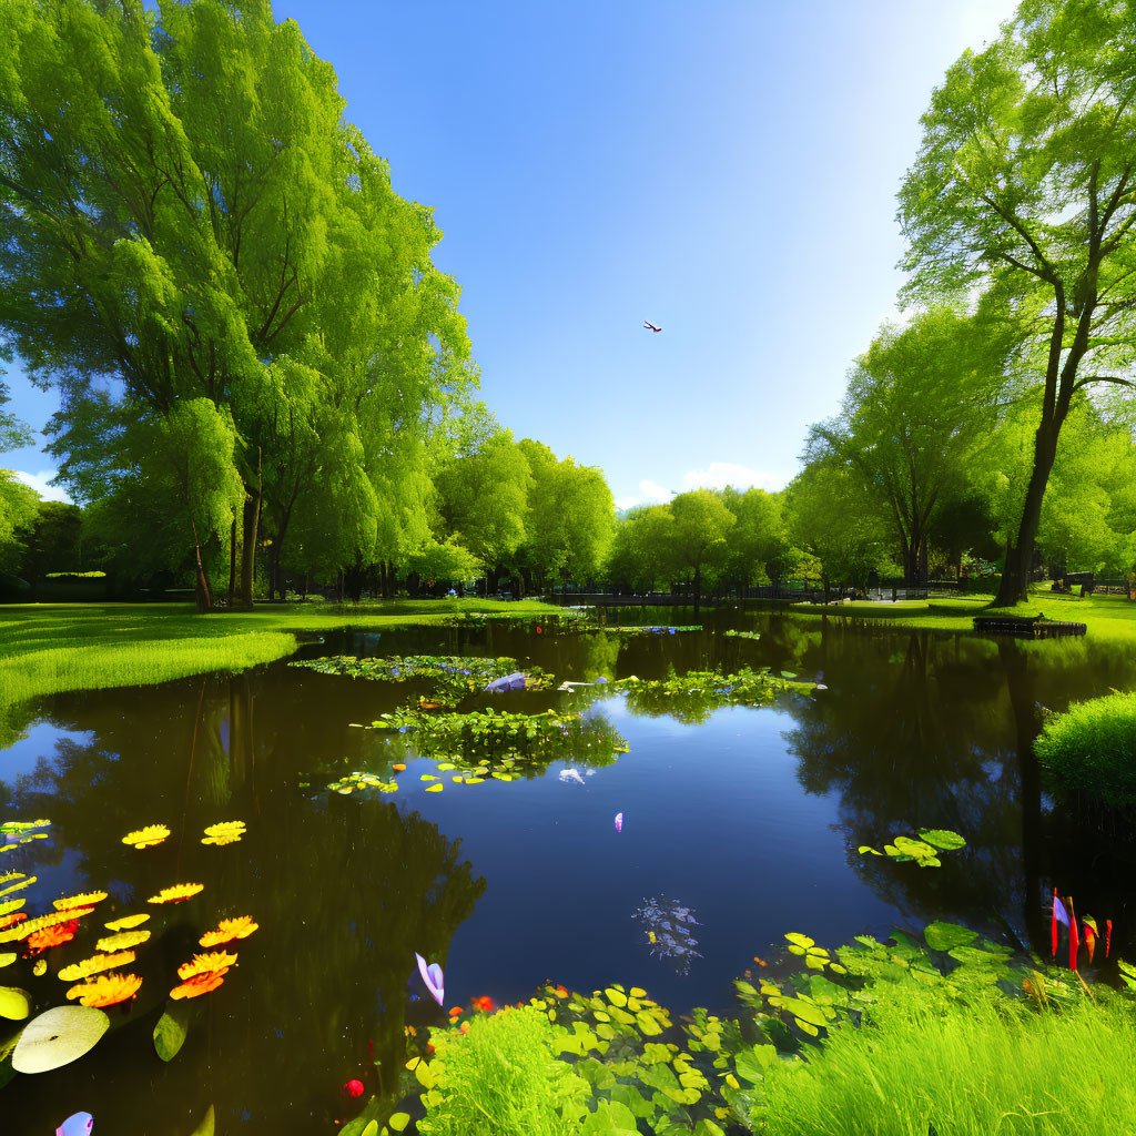
M693 621L660 609L621 618ZM358 1077L393 1100L408 1076L404 1026L444 1018L417 977L416 951L444 964L448 1006L527 999L552 979L585 991L637 984L676 1013L728 1010L730 979L755 954L775 971L785 932L833 947L938 918L1047 952L1043 897L1055 884L1079 912L1111 918L1113 949L1133 954L1130 840L1055 807L1029 746L1042 707L1136 686L1136 651L752 611L702 620L703 633L667 637L493 625L329 636L301 654L511 655L571 680L750 663L828 688L702 721L636 715L623 695L608 698L590 712L629 742L613 765L590 769L585 753L537 779L446 779L431 794L419 775L434 763L411 758L396 794L351 797L325 786L352 770L387 776L404 742L350 724L425 687L278 663L33 708L26 738L0 752L0 819L50 818L51 836L8 853L0 874L37 877L31 914L73 892L110 899L78 939L47 954L47 975L20 960L0 983L31 991L36 1012L60 1004L69 984L56 972L93 953L102 922L157 914L147 925L154 938L128 968L144 979L136 1001L109 1011L111 1033L81 1061L0 1088L0 1131L45 1136L86 1110L103 1136L189 1136L214 1104L226 1136L332 1133L358 1111L341 1086ZM725 637L728 626L762 638ZM558 698L495 704L533 710ZM583 784L561 779L567 768ZM248 833L201 845L219 820L243 820ZM172 838L142 851L122 843L151 822ZM938 870L857 852L924 826L955 829L969 845ZM206 887L183 904L147 905L182 882ZM649 952L633 914L652 896L698 919L701 957L688 967ZM236 944L224 986L197 1000L185 1046L166 1064L151 1034L177 966L234 914L260 930Z

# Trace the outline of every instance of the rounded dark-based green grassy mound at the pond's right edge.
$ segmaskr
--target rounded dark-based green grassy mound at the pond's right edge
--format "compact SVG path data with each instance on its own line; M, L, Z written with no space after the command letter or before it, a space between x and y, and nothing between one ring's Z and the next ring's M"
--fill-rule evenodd
M1103 804L1136 804L1136 693L1075 702L1045 719L1034 752L1064 792Z

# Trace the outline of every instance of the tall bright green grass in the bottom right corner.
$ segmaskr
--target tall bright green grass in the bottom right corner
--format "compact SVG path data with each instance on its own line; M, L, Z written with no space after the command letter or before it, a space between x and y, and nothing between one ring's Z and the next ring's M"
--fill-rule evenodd
M1054 1013L996 992L951 1003L889 989L862 1026L766 1074L751 1116L768 1136L1080 1136L1136 1131L1136 1013L1097 987Z

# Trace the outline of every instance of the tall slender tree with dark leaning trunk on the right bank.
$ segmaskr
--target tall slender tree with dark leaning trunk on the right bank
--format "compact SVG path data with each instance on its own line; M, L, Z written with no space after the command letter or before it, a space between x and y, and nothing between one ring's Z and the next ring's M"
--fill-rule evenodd
M1026 599L1042 500L1077 391L1127 382L1136 270L1136 72L1126 0L1022 0L946 73L900 191L909 300L988 291L1029 328L1031 473L995 602Z

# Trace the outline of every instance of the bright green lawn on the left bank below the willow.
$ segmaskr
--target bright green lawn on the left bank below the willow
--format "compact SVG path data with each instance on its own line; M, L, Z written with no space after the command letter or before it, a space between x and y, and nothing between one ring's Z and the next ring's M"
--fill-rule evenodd
M8 604L0 608L0 705L64 691L239 671L291 654L296 632L409 627L470 611L558 610L527 600L287 604L208 616L187 603Z

